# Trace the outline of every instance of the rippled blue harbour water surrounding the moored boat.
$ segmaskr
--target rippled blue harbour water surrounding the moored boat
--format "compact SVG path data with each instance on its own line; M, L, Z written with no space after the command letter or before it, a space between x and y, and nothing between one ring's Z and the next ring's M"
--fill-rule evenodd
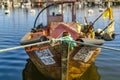
M0 9L0 49L19 46L20 39L28 32L34 24L34 19L40 9L35 9L36 13L31 14L30 9L12 9L9 15L4 14L4 10ZM65 8L64 21L71 21L71 9ZM86 11L88 8L86 8ZM97 16L100 15L98 7L93 8L93 15L87 15L88 21L94 21ZM67 12L68 11L68 12ZM52 10L51 10L52 12ZM120 33L120 7L113 7L114 20L115 20L115 32ZM46 12L41 15L41 19L37 24L43 22L46 25ZM77 10L77 20L83 23L84 10ZM100 27L104 28L108 24L108 21L104 21L100 18L95 23L95 29ZM120 36L117 36L114 41L105 42L104 45L120 49ZM17 49L8 52L0 53L0 80L27 80L25 73L29 70L27 66L27 56L24 49ZM101 53L97 57L95 63L80 80L119 80L120 79L120 52L102 49ZM28 65L28 64L27 64ZM23 74L24 70L24 74ZM33 69L35 73L38 73L36 69ZM33 72L32 72L33 73ZM92 74L94 73L94 74ZM33 76L33 75L31 75ZM87 77L86 77L87 76ZM95 78L92 78L96 76ZM36 80L33 76L31 80ZM41 80L40 78L38 80Z

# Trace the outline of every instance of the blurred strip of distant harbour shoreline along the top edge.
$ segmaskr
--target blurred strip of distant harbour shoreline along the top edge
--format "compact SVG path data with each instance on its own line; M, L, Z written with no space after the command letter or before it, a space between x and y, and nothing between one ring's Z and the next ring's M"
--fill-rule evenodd
M107 6L110 3L111 6L120 5L120 0L0 0L0 6L5 7L21 7L23 4L30 3L32 7L44 7L47 2L78 2L88 7L92 6Z

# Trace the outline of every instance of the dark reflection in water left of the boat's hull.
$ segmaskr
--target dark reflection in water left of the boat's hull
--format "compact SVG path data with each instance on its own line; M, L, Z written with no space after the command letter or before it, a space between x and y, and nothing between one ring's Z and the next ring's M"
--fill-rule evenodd
M43 75L37 70L30 59L27 60L25 69L23 70L23 80L55 80L52 77Z

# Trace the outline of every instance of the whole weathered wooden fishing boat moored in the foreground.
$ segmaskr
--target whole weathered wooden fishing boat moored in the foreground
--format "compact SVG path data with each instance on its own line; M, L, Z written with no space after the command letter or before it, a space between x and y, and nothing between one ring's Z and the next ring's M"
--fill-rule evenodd
M71 3L72 22L63 22L62 7L65 3ZM56 5L61 6L61 14L49 15L49 8ZM47 11L48 25L40 24L36 27L36 21L44 10ZM104 40L91 34L93 24L87 25L89 28L84 26L85 28L81 30L75 12L75 1L48 3L38 13L34 28L21 39L21 45L29 45L25 51L36 68L53 80L80 78L101 51L101 48L90 44L98 46L104 44Z

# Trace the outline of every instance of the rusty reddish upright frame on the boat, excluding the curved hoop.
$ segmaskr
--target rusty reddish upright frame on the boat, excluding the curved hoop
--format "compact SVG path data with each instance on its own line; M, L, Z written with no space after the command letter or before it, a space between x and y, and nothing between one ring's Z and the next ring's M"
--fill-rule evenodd
M47 6L52 4L52 3L59 3L60 1L56 1L56 2L47 2ZM61 4L56 4L56 5L60 5L60 11L61 14L60 15L56 15L55 12L53 12L53 15L50 15L50 10L49 8L47 8L47 24L49 25L51 22L63 22L63 4L64 3L72 3L72 21L76 20L76 5L75 5L75 1L62 1Z

